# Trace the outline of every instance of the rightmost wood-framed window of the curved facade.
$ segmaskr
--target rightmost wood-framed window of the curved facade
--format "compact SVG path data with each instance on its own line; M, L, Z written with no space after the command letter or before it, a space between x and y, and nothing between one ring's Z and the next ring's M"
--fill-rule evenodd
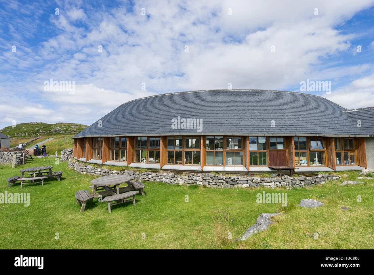
M334 138L336 165L356 165L353 138Z

